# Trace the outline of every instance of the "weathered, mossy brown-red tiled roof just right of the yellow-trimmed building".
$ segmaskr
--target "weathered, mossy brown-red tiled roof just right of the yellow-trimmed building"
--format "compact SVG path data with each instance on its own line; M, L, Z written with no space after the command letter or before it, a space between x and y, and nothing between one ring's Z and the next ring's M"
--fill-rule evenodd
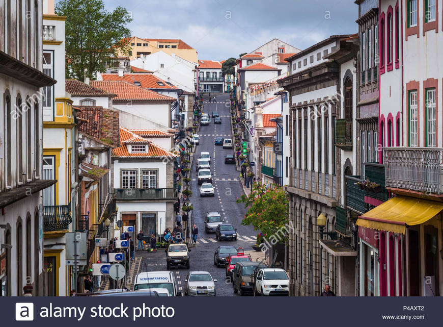
M75 106L82 121L78 131L110 147L120 146L119 112L103 107Z

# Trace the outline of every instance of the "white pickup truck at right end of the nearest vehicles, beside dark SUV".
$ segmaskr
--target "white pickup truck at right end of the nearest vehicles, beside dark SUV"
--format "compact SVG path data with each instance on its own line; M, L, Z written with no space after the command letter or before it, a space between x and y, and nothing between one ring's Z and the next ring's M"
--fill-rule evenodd
M289 277L281 268L262 268L255 281L256 295L289 296Z

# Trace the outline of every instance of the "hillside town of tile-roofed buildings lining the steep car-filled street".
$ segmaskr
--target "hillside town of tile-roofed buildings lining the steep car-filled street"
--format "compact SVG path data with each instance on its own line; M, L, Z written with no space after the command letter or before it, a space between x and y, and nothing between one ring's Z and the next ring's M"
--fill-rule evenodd
M72 17L0 1L0 295L443 295L443 0L343 6L304 49L132 35L78 75Z

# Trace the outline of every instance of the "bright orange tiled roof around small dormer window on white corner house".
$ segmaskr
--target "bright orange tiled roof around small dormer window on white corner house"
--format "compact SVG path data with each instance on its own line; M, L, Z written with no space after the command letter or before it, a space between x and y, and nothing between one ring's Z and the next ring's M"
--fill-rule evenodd
M131 130L120 127L120 139L122 146L113 149L112 156L115 158L165 158L178 157L178 155L158 146L154 142L144 139L139 135L131 132ZM148 146L147 153L129 153L126 144L146 144Z

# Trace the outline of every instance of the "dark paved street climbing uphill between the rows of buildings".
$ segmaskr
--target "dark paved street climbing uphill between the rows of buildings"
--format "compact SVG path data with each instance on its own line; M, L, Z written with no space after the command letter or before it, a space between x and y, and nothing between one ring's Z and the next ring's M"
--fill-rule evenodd
M191 248L190 269L184 267L173 268L176 271L179 288L183 288L184 280L189 270L204 270L211 273L214 279L217 279L217 296L233 296L232 284L225 280L225 269L216 267L213 264L214 252L218 245L241 246L245 251L251 251L252 245L256 241L256 232L250 226L241 225L241 220L246 212L243 205L236 203L237 197L243 194L242 186L239 180L240 172L236 166L225 164L224 159L227 154L232 154L233 149L223 149L221 145L214 145L214 139L217 136L232 138L231 116L229 112L229 95L221 94L216 96L216 103L205 102L203 112L209 114L217 111L221 117L221 124L214 124L213 118L207 126L201 126L200 144L193 154L192 167L190 171L192 196L190 201L193 204L193 223L199 229L196 247ZM197 183L197 172L195 161L200 157L201 152L211 154L211 173L212 183L215 188L214 197L200 197L199 185ZM237 241L217 241L214 233L206 233L204 227L205 214L207 212L218 211L227 222L234 225L237 229ZM163 249L158 249L156 253L147 251L137 251L136 257L141 257L140 265L136 265L137 271L159 271L166 270L166 257ZM137 261L136 261L137 262Z

